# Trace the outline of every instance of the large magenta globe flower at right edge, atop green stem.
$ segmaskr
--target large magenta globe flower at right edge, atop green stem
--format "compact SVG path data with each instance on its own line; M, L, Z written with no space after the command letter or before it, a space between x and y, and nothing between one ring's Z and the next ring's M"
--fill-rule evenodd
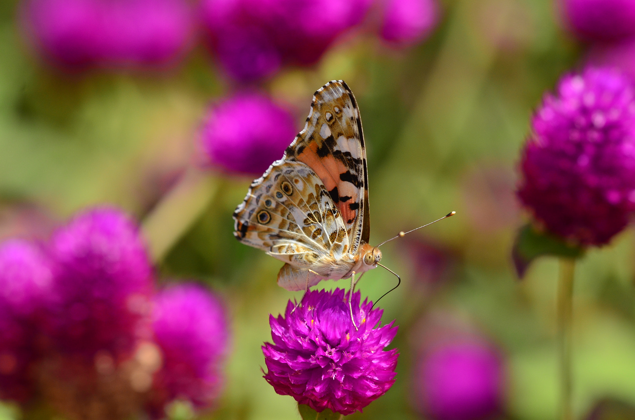
M635 96L627 77L584 70L536 111L518 195L551 233L606 244L635 209Z

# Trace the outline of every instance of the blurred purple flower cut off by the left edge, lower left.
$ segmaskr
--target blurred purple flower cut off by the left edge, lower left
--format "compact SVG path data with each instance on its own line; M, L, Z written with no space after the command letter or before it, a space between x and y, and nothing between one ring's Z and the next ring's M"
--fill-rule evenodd
M0 398L23 402L32 384L29 363L36 357L41 309L51 291L48 258L25 240L0 246Z

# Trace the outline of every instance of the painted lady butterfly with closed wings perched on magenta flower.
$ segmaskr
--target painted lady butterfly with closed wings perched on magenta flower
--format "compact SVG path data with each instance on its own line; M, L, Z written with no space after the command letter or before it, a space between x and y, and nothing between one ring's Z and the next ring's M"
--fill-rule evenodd
M353 284L377 267L361 118L344 81L316 91L304 129L251 183L233 217L239 241L284 262L277 283L289 291L324 279Z

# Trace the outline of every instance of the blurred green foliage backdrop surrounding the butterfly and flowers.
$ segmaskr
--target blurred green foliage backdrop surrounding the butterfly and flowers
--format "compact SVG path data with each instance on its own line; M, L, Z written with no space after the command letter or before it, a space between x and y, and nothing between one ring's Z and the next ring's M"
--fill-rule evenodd
M96 203L142 219L191 161L207 103L231 91L204 48L168 72L65 74L41 62L17 24L17 2L0 3L0 207L29 203L51 225ZM422 287L406 242L384 249L403 284L382 300L396 319L401 353L392 389L351 419L417 419L411 367L430 314L455 314L507 357L509 418L556 418L557 261L545 257L519 282L510 253L526 218L513 197L519 148L545 89L582 53L560 27L551 0L448 0L424 44L386 49L361 34L311 69L286 69L265 89L292 107L298 129L312 92L345 79L358 98L368 147L372 234L450 220L413 233L450 250L450 279ZM290 139L291 140L291 139ZM231 214L251 180L224 178L210 206L159 264L160 281L197 279L227 303L232 343L226 386L206 419L299 419L295 401L262 379L260 345L300 292L277 287L280 263L232 237ZM4 228L14 223L0 219ZM635 404L635 238L629 228L590 250L577 267L574 302L575 412L602 397ZM377 299L394 284L373 270L361 290ZM345 287L326 282L320 287ZM175 405L174 418L189 418ZM11 410L0 407L0 419Z

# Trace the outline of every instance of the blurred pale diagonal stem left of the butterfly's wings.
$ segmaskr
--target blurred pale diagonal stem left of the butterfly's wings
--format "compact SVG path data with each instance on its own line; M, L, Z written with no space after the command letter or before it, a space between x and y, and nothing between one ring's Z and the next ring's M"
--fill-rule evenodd
M168 254L210 204L217 190L218 181L210 172L197 167L185 172L142 223L152 261L161 261Z

